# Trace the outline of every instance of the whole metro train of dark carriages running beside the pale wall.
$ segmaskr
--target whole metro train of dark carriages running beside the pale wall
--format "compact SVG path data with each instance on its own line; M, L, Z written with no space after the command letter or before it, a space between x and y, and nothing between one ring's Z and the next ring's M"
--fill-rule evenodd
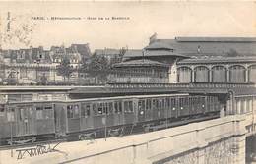
M22 142L92 133L110 137L115 130L138 133L146 127L219 117L224 107L217 96L188 93L9 102L0 105L0 140L6 144L10 138Z

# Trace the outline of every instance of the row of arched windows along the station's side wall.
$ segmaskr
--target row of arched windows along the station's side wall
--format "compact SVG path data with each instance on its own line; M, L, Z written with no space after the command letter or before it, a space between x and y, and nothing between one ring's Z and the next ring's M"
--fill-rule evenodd
M211 72L211 74L210 74ZM214 66L208 69L198 66L192 71L189 67L177 69L178 82L256 82L256 65L248 67L248 80L246 80L246 69L240 65L230 66L227 70L224 66ZM211 77L210 77L211 75Z

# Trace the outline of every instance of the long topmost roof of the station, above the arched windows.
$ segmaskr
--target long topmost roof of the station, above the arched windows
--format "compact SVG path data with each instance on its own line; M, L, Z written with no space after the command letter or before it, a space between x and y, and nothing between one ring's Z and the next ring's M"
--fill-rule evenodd
M256 54L256 37L176 37L156 39L154 42L167 44L177 53L188 57L228 56L231 50L236 51L238 55Z

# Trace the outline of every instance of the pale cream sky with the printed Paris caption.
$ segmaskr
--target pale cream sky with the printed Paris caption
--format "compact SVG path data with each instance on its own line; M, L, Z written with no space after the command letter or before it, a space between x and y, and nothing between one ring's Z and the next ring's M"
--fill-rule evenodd
M34 17L43 20L34 20ZM52 20L51 17L69 20ZM0 2L3 49L39 45L49 49L52 45L72 43L89 43L92 50L141 49L155 32L158 38L170 39L176 36L256 37L256 3Z

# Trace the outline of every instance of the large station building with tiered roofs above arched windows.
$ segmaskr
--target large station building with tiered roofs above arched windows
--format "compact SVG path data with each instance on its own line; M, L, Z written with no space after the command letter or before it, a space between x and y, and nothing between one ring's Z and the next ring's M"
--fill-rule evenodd
M147 59L165 64L168 83L256 82L255 47L256 38L157 39L154 35L143 50L128 50L123 61Z

